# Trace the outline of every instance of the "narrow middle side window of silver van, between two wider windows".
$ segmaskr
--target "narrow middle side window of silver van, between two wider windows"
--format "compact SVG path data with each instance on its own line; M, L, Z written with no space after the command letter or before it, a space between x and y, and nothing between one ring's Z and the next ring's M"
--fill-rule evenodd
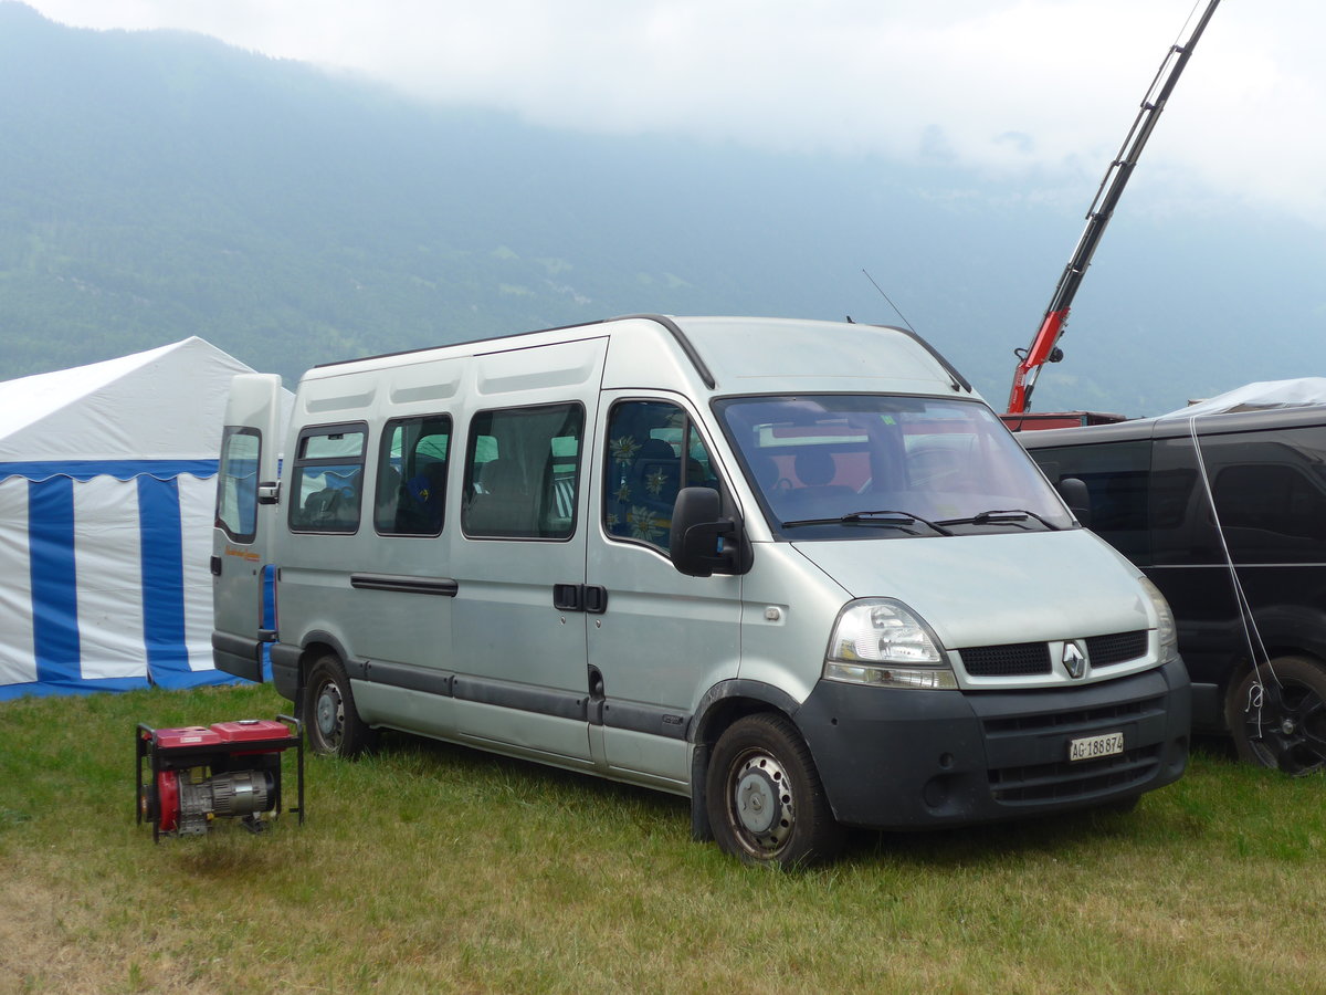
M442 533L451 417L396 418L382 431L373 524L389 536Z

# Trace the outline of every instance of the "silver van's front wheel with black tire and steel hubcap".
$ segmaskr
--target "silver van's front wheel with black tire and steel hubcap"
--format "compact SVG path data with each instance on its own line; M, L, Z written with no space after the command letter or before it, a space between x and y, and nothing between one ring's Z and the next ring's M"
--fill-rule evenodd
M747 715L723 734L704 801L719 846L747 864L819 864L837 856L846 837L805 740L773 712Z

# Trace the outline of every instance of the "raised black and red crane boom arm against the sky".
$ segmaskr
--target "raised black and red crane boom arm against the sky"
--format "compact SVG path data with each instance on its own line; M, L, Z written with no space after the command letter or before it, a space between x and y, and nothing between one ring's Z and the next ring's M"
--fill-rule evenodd
M1197 46L1201 32L1205 31L1211 15L1216 12L1216 7L1219 5L1220 0L1211 0L1188 34L1187 41L1171 45L1164 61L1160 62L1160 69L1156 70L1156 76L1151 81L1146 97L1142 100L1142 109L1138 111L1132 127L1128 129L1128 134L1119 147L1119 154L1105 171L1105 178L1095 191L1095 199L1091 200L1091 207L1086 214L1086 227L1082 230L1077 248L1073 249L1073 256L1059 276L1059 283L1054 288L1054 296L1050 298L1050 305L1045 309L1045 317L1041 320L1041 326L1037 329L1032 345L1026 349L1014 350L1018 365L1013 373L1013 390L1008 398L1009 414L1024 414L1029 409L1032 390L1036 387L1036 378L1040 375L1041 367L1046 362L1058 362L1062 358L1062 353L1058 350L1058 341L1063 334L1063 328L1069 320L1069 309L1073 306L1073 298L1082 284L1086 268L1091 265L1091 256L1095 255L1101 236L1105 233L1105 228L1114 215L1114 208L1118 206L1119 198L1123 195L1123 188L1127 186L1128 178L1138 165L1138 158L1142 155L1142 150L1146 147L1147 139L1156 126L1160 111L1164 110L1170 94L1174 92L1180 73L1183 73L1183 68L1188 64L1192 50Z

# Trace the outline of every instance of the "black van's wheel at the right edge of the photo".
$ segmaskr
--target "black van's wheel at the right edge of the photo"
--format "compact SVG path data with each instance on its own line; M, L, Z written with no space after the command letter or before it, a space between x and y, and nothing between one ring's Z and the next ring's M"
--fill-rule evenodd
M1257 685L1261 685L1258 689ZM1294 776L1326 765L1326 669L1307 657L1281 657L1235 690L1225 718L1238 759Z

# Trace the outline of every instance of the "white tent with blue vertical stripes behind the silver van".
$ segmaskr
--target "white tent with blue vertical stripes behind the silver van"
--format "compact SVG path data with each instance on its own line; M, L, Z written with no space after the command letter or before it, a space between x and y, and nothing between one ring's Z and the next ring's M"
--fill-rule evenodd
M236 373L194 337L0 383L0 700L231 679L208 560Z

